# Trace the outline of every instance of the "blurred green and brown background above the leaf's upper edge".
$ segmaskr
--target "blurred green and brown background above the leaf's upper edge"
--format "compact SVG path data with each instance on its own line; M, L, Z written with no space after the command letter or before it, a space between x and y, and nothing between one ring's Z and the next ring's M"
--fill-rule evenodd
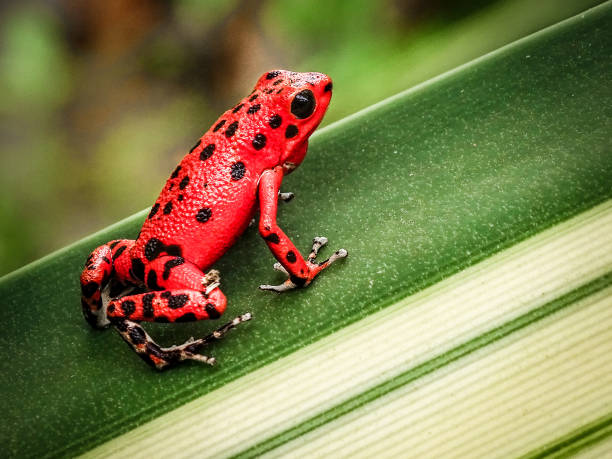
M269 69L329 74L329 124L598 3L2 2L0 275L150 206Z

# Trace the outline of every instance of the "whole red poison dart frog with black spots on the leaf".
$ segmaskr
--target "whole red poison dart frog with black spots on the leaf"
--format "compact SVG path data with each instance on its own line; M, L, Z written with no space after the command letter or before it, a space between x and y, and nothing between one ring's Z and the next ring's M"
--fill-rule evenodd
M219 272L208 270L260 211L259 232L288 278L261 285L283 292L306 287L335 260L340 249L317 262L324 237L304 258L276 222L283 177L304 159L308 138L332 95L321 73L285 70L261 76L251 94L226 111L174 169L151 207L136 240L118 239L95 249L81 274L83 314L95 328L112 325L147 363L164 369L195 360L238 324L246 313L200 339L163 348L140 322L187 322L219 318L226 308ZM208 270L208 272L207 272Z

